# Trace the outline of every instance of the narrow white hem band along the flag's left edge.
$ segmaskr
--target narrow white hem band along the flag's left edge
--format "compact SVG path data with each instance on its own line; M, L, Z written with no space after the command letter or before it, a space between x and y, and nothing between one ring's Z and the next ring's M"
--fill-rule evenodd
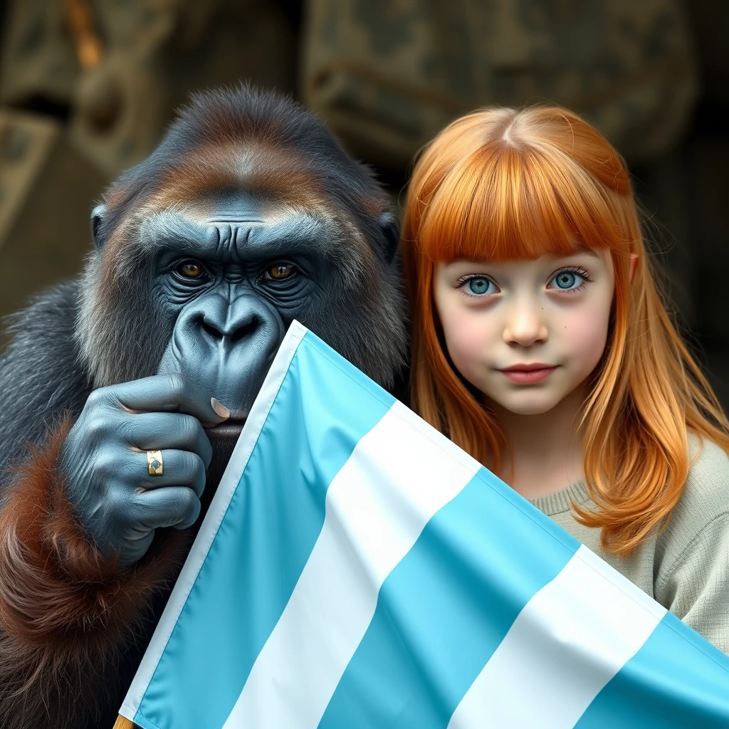
M261 389L254 400L251 412L243 424L243 430L238 437L238 443L230 456L225 474L218 485L215 495L211 499L210 507L200 525L198 536L195 537L195 543L187 555L182 571L175 582L175 586L170 593L170 598L165 606L160 622L157 623L155 634L149 642L147 652L144 653L139 664L139 669L129 687L127 695L122 703L119 713L122 717L133 721L136 712L139 710L144 693L147 686L152 680L152 676L157 669L157 663L165 650L172 631L182 612L187 596L192 589L195 580L198 579L200 568L208 554L208 550L217 534L220 523L222 522L225 512L227 511L230 499L238 488L238 482L241 480L243 469L251 457L254 445L258 440L263 424L268 418L268 413L276 399L281 383L289 371L291 361L294 359L296 350L304 338L308 330L298 321L292 321L288 332L284 337L281 346L278 348L276 356L273 358L268 374L263 381Z

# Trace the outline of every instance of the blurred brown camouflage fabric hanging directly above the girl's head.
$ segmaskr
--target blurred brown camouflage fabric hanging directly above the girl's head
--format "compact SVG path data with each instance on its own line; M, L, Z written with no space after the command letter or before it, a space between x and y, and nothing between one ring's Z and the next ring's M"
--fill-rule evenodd
M308 0L306 15L305 103L390 168L472 109L537 102L647 160L697 93L678 0Z

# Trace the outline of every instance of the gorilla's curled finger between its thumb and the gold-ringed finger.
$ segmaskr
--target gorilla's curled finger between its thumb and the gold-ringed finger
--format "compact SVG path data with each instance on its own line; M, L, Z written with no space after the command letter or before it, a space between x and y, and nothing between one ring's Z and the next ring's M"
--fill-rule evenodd
M128 416L126 440L141 451L176 448L197 453L210 465L213 447L198 418L184 413L139 413Z

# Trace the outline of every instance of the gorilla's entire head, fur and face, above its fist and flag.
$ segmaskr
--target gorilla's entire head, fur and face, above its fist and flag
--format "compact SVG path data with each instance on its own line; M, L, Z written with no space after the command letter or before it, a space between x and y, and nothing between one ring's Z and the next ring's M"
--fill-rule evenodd
M293 319L385 387L404 367L391 202L291 100L198 95L92 230L76 330L91 385L183 375L230 410L208 430L217 456Z

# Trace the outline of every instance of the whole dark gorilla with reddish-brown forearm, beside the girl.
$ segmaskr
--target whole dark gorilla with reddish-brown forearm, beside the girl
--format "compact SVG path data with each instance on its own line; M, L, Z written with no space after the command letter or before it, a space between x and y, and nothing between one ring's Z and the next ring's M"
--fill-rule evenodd
M91 228L0 357L4 729L111 729L292 319L405 366L389 198L289 99L193 96Z

